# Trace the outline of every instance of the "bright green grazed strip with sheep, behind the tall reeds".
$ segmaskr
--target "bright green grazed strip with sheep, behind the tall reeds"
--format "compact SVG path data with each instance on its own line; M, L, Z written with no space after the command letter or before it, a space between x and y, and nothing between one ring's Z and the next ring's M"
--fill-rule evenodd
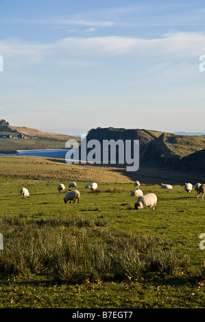
M183 186L173 186L173 190L161 189L159 185L141 184L144 195L155 193L158 203L155 210L135 210L136 197L130 197L134 184L99 183L96 191L84 188L89 182L77 182L80 203L65 204L63 197L69 190L69 182L38 182L34 180L1 179L1 216L27 216L34 219L49 219L53 216L76 216L96 219L102 217L107 227L143 234L160 234L181 251L189 251L193 257L202 257L199 236L204 232L205 203L192 190L187 194ZM59 183L66 190L58 193ZM28 188L31 197L22 199L21 187Z

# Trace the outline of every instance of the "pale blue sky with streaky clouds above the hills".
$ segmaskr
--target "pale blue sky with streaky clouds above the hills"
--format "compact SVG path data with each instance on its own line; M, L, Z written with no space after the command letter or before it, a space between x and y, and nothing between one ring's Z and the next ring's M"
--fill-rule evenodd
M205 132L203 1L0 0L0 118Z

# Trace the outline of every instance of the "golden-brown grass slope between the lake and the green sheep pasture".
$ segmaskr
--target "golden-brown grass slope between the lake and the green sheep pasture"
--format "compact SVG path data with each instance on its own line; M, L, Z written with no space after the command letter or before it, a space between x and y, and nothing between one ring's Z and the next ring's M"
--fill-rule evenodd
M0 177L43 181L131 182L121 169L105 166L67 164L64 159L32 156L1 156Z

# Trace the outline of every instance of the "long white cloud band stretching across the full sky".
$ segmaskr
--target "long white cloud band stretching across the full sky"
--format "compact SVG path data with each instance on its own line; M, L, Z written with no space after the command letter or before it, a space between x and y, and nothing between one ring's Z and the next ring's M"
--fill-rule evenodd
M53 56L101 58L136 55L150 59L158 56L186 59L205 53L205 35L197 32L176 32L155 39L121 36L69 37L45 44L8 38L0 40L0 48L4 58L22 57L36 64Z

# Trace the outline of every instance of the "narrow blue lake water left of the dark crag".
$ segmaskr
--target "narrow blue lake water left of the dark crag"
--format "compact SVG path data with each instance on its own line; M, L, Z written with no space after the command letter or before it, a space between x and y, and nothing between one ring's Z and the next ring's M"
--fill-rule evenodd
M47 158L60 158L64 159L66 153L69 152L67 149L53 149L53 150L19 150L18 153L0 153L0 156L42 156ZM71 150L71 154L73 150ZM67 158L69 154L67 155ZM71 158L71 157L69 157Z

